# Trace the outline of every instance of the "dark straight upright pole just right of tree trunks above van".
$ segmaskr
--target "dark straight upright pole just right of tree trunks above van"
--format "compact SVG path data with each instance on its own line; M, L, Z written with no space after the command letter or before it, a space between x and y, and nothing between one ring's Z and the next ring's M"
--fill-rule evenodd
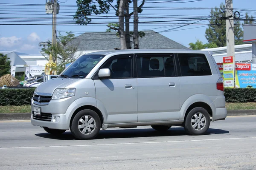
M139 34L138 34L138 2L133 1L134 4L134 49L139 49Z

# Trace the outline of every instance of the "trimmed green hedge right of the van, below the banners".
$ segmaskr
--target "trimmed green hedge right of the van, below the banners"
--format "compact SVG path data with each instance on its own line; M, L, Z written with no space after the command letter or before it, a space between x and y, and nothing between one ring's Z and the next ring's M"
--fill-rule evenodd
M256 102L256 88L224 88L226 102Z

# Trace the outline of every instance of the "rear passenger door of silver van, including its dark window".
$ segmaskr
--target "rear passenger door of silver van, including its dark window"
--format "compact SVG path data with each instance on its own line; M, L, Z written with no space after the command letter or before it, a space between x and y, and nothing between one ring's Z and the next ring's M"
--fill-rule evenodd
M180 81L174 54L137 54L138 122L180 118Z

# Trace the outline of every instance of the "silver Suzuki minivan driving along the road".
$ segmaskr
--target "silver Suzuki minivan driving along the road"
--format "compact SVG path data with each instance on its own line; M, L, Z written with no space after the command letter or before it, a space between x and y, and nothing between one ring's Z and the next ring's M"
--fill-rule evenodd
M35 89L31 123L94 139L109 127L183 126L204 134L227 116L223 79L208 51L113 50L85 54Z

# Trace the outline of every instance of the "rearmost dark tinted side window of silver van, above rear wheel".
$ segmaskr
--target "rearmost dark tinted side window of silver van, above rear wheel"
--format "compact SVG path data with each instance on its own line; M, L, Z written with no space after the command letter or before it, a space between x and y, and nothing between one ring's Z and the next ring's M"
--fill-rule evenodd
M178 54L181 76L212 75L209 63L204 54Z

